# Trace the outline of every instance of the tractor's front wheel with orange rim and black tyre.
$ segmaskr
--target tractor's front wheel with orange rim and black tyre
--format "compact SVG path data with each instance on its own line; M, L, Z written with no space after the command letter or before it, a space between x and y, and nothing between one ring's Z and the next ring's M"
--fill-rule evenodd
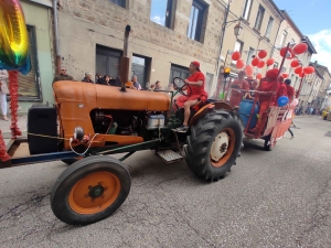
M88 157L60 175L51 194L51 207L66 224L87 225L111 215L125 202L130 187L130 174L118 160Z

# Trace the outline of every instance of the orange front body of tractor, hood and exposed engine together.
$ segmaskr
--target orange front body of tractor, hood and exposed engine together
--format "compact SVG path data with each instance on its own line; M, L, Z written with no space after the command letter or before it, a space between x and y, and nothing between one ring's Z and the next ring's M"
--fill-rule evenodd
M127 89L81 82L53 85L64 150L75 128L85 134L98 133L92 147L142 142L148 129L164 126L170 97L164 93ZM127 138L126 138L127 137Z

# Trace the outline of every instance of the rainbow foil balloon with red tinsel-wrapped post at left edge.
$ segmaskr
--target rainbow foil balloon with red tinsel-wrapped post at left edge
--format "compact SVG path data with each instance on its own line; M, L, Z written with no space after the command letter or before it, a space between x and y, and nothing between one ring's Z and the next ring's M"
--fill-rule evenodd
M21 136L18 127L19 72L31 71L29 37L24 12L19 0L0 0L0 67L9 71L9 93L12 138ZM0 160L10 159L0 131Z

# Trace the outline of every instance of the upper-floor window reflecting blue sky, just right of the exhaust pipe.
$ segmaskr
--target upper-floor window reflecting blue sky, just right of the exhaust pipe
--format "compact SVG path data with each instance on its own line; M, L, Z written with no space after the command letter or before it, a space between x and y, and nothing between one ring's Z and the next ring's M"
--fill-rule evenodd
M152 0L150 20L160 25L173 29L177 0Z

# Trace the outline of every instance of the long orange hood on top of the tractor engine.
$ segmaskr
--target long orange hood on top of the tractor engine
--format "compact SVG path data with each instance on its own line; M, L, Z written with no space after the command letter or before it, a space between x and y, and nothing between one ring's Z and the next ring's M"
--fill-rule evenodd
M127 89L82 82L61 80L53 85L57 104L85 105L92 109L168 111L170 97L164 93Z

